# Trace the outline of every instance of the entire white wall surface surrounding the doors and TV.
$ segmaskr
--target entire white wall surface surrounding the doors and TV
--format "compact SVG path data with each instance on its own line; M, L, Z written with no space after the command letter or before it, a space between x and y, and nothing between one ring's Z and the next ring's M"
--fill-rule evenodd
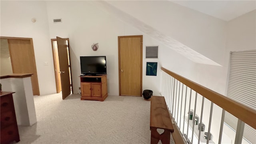
M36 18L36 22L31 21ZM62 18L62 23L53 23ZM160 95L160 67L157 76L146 76L145 45L159 45L140 30L95 7L92 1L1 1L1 36L33 38L40 94L55 93L50 39L70 38L74 93L80 87L80 56L107 56L108 92L118 95L118 36L143 35L143 86ZM91 50L99 43L98 51ZM44 62L48 62L45 66Z

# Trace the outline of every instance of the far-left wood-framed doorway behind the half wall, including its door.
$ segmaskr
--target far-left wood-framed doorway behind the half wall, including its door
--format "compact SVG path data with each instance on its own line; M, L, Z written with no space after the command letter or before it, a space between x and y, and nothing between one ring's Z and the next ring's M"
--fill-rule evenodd
M11 73L29 73L34 96L39 96L39 84L36 70L36 58L32 38L1 36L1 75ZM3 70L8 71L4 72Z

